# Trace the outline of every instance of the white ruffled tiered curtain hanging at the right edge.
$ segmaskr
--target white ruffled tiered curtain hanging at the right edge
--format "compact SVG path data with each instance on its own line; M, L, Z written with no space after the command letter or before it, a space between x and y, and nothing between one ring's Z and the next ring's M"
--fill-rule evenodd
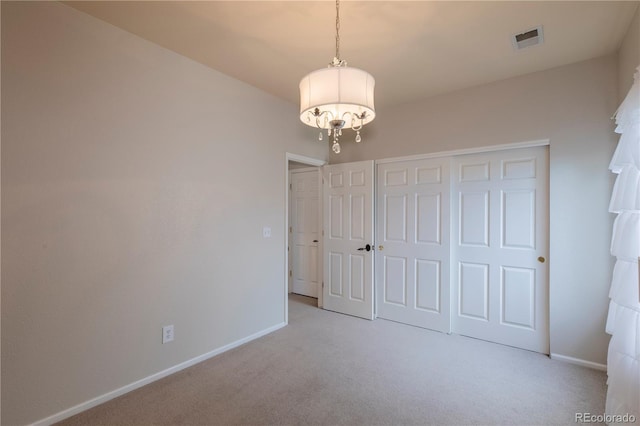
M606 414L640 420L640 66L634 84L615 115L618 147L609 168L616 173L609 211L613 225L611 254L616 257L609 297Z

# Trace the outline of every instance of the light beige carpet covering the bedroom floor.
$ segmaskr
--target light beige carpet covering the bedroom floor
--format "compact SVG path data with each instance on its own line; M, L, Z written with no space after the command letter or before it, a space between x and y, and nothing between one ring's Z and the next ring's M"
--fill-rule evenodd
M544 355L289 299L275 333L65 425L575 425L606 374Z

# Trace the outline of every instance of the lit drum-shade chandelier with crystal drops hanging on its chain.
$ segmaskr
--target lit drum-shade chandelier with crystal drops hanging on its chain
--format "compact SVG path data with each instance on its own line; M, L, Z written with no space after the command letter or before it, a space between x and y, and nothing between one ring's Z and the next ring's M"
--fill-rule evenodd
M340 0L336 0L336 56L327 68L307 74L300 81L300 120L320 129L329 138L333 136L331 149L340 153L339 138L342 129L353 129L355 141L362 141L360 130L375 116L371 74L358 68L347 67L340 59Z

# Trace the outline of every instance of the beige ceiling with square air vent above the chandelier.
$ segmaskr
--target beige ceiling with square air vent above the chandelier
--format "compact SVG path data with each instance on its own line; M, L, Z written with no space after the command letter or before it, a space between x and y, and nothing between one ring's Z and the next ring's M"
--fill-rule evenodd
M298 103L335 54L335 2L72 1L67 5ZM614 53L640 1L345 1L340 52L376 79L376 107ZM543 26L516 51L513 34Z

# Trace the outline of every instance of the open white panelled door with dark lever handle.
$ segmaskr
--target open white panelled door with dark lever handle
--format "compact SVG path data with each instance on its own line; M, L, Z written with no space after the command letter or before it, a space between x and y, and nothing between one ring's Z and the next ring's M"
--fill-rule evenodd
M324 167L324 308L373 319L373 161Z

